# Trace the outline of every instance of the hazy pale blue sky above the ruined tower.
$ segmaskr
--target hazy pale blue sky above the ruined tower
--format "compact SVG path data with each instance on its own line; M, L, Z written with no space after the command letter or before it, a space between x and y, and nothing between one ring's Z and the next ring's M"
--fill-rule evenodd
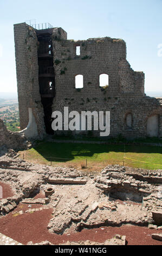
M33 19L62 27L68 39L124 39L131 68L145 73L145 91L162 91L161 0L0 0L0 11L0 92L17 91L13 25Z

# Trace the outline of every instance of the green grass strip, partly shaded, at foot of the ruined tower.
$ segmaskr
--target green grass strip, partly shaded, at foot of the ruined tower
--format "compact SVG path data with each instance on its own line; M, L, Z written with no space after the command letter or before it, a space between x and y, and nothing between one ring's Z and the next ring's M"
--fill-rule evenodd
M122 164L146 169L162 169L162 148L146 145L82 144L37 142L25 151L26 160L48 164L53 162L76 163L85 161ZM54 158L53 158L54 157Z

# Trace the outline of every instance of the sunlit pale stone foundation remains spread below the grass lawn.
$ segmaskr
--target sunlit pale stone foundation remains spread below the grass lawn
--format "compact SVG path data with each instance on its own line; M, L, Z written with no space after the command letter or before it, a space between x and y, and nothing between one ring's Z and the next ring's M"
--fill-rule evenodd
M135 178L136 174L140 179ZM158 180L152 184L154 178ZM69 230L76 232L122 224L150 224L149 228L161 229L160 169L151 171L114 165L107 166L101 173L86 174L75 168L32 164L4 155L0 157L0 179L14 192L14 196L0 200L0 218L20 203L42 204L39 210L53 209L47 227L50 233L66 234ZM55 191L51 196L35 198L49 187ZM15 214L25 215L37 210L21 210Z

